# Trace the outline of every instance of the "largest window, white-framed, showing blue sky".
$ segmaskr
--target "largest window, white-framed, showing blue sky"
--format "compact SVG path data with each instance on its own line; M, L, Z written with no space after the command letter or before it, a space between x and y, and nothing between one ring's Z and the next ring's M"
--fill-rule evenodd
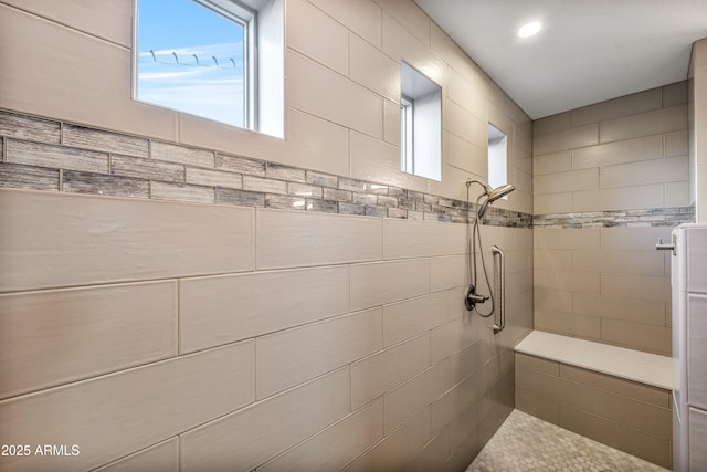
M282 0L138 0L134 97L284 135Z

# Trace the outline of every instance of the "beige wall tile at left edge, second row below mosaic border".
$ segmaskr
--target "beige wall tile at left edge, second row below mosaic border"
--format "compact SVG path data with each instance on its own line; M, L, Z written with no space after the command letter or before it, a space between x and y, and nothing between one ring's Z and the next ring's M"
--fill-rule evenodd
M173 281L0 295L0 398L177 355Z

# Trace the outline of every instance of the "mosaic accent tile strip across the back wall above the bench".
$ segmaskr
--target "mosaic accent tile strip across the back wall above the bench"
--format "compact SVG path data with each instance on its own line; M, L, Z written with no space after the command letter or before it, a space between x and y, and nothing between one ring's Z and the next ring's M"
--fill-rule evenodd
M536 214L535 228L651 228L695 222L695 204L644 210Z

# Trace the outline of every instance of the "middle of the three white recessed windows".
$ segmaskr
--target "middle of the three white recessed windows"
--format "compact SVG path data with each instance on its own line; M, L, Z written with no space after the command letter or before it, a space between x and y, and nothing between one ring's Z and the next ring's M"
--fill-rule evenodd
M401 169L442 180L442 88L404 62L401 78Z

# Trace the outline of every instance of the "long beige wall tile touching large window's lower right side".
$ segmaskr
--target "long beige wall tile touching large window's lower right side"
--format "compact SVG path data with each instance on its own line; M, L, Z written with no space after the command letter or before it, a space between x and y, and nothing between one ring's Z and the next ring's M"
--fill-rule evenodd
M380 96L296 52L286 61L289 106L382 139Z

